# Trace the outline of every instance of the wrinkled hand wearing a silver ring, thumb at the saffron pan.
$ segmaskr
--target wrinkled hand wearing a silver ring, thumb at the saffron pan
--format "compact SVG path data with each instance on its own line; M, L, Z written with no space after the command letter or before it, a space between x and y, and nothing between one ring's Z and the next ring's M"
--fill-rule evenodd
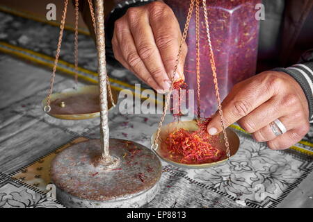
M237 121L257 142L267 142L273 150L296 144L310 128L305 94L283 72L265 71L236 84L222 107L226 126ZM287 133L275 136L268 125L275 119L280 119ZM222 130L218 112L207 129L210 134Z

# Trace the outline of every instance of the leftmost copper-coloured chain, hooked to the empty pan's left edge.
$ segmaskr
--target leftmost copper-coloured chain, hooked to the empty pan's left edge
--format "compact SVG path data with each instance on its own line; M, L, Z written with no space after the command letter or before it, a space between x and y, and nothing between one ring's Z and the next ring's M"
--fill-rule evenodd
M63 37L63 31L64 31L64 26L65 26L65 18L66 18L66 12L67 12L67 4L68 0L64 1L64 8L63 8L63 15L61 19L61 25L60 25L60 33L58 36L58 46L56 49L56 57L54 59L54 67L52 70L51 78L50 78L50 87L48 89L48 96L47 96L47 105L45 105L44 111L45 112L50 112L51 110L51 94L54 90L54 78L56 76L56 66L58 65L58 58L60 56L60 51L61 51L61 44L62 44L62 37Z

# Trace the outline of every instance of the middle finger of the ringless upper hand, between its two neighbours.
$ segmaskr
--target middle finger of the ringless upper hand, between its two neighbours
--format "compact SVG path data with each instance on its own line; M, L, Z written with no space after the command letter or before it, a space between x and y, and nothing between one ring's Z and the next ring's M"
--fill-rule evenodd
M127 10L131 35L134 37L138 55L143 60L152 78L163 90L168 90L170 89L170 79L166 74L159 49L155 43L149 19L147 16L142 15L143 13L147 13L147 11L138 10L135 7Z

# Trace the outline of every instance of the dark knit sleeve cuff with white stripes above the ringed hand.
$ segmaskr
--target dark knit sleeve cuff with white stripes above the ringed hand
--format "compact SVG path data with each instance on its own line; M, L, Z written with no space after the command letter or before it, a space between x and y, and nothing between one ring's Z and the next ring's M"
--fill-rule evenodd
M272 70L284 71L299 83L309 103L309 120L313 122L313 62L304 62L288 68L276 68Z

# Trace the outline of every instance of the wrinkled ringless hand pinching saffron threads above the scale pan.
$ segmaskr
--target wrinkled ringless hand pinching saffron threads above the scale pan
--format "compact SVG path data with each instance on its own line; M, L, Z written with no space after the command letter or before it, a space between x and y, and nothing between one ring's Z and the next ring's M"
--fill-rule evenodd
M154 1L132 7L115 21L112 39L115 58L158 92L167 92L177 60L182 33L177 19L165 3ZM184 78L182 56L174 79Z

